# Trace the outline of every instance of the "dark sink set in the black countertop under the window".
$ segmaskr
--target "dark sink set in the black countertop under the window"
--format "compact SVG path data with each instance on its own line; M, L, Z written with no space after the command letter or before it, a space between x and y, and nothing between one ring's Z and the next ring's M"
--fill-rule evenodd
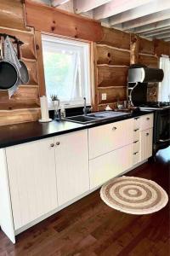
M123 112L114 112L114 111L105 111L99 113L88 113L87 115L77 115L70 118L66 118L66 121L79 123L79 124L88 124L93 122L99 122L105 119L116 119L117 117L131 115L131 113Z

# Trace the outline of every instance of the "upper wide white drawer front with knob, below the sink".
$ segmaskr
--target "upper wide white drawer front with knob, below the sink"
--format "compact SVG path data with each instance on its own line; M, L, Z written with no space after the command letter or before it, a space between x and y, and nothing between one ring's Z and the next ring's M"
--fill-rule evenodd
M88 130L89 159L133 143L133 119Z

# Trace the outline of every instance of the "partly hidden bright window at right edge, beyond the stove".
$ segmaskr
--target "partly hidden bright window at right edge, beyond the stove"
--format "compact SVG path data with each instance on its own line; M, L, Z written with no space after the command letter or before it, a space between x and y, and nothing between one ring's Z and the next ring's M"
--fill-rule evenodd
M160 58L160 68L164 71L163 81L159 84L158 100L160 102L170 101L170 59L167 55Z

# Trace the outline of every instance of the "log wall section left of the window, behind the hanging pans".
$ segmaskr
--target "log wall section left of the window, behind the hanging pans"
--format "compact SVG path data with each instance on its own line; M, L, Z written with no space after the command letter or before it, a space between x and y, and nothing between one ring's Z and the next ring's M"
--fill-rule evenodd
M22 61L30 75L29 83L21 84L10 100L5 91L0 91L0 125L37 120L40 117L37 50L34 29L26 27L24 6L20 0L0 1L0 32L14 35L24 42Z

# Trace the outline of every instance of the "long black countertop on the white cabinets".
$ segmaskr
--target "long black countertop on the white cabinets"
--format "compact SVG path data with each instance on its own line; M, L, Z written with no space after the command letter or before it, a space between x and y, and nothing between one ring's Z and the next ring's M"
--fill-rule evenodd
M47 137L54 137L72 131L79 131L99 125L110 124L123 119L138 117L147 113L152 113L152 111L139 111L132 113L130 116L119 117L116 119L107 119L88 125L82 125L62 120L52 121L49 123L39 123L37 121L17 125L4 125L0 126L0 148L7 148L17 144L28 143Z

